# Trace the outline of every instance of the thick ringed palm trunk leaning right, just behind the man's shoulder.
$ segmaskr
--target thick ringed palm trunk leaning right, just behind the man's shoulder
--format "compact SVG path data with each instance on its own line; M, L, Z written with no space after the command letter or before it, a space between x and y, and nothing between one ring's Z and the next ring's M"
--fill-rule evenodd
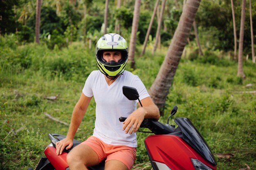
M155 81L149 89L150 96L163 115L165 100L173 81L177 66L186 45L201 0L187 0L173 40Z

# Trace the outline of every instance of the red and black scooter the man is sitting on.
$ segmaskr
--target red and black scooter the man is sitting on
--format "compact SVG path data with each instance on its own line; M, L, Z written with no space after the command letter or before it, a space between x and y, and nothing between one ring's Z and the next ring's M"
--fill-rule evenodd
M139 94L135 88L123 86L123 93L129 100L139 100ZM177 106L174 106L167 124L154 119L144 119L141 123L141 128L148 128L150 133L155 134L144 140L153 170L216 170L217 163L209 146L188 118L175 118L177 128L175 125L168 124L169 119L176 112ZM125 119L126 117L120 117L119 121ZM64 139L65 136L49 134L49 138L51 144L44 151L46 158L40 159L35 170L70 170L66 161L67 154L81 142L74 140L72 148L64 150L62 155L56 155L56 142ZM88 168L104 170L104 164L105 161L102 161L97 166Z

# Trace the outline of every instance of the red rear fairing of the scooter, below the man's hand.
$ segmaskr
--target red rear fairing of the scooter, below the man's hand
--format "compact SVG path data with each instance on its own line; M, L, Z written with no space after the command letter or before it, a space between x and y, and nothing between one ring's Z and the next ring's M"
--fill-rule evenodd
M68 165L67 165L67 153L63 152L61 155L56 154L56 148L49 146L48 148L45 149L45 156L49 159L51 162L52 166L56 170L65 170Z

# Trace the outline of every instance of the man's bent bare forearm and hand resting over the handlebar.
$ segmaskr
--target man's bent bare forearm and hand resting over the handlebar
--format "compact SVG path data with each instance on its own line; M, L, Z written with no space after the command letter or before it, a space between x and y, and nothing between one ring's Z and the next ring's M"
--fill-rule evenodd
M159 110L153 103L151 97L142 99L141 104L143 107L139 107L137 110L132 112L123 122L124 126L122 130L125 130L126 133L129 131L129 134L132 134L132 132L137 132L144 118L156 120L160 118Z

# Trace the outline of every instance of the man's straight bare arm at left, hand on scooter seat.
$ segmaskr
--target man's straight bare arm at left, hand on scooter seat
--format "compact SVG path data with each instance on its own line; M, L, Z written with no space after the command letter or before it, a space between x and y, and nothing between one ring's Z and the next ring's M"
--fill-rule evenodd
M56 143L57 155L62 154L66 146L66 149L70 149L73 146L73 139L76 134L76 130L78 129L79 125L81 124L81 121L83 120L83 116L85 115L85 112L88 108L91 99L92 97L87 97L83 94L83 92L81 93L80 99L76 103L76 106L74 107L72 113L71 123L69 130L67 132L67 137Z

